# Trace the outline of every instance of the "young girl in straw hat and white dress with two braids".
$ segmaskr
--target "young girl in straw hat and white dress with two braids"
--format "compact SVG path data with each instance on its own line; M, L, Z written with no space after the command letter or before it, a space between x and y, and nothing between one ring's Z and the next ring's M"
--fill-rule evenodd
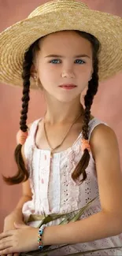
M57 248L50 255L103 248L91 255L122 255L118 143L113 129L91 115L99 80L121 70L121 40L120 17L74 0L48 2L2 32L0 79L23 85L18 172L4 180L22 183L23 196L6 217L0 255L49 245ZM46 113L28 125L30 87L43 91ZM94 198L79 221L58 225ZM58 218L43 224L49 214Z

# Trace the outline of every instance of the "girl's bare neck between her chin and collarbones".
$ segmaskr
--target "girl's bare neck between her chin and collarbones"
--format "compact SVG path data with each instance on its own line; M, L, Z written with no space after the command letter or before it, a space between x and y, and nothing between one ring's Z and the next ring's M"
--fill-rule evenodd
M84 109L79 98L76 98L72 102L57 102L57 100L53 99L53 101L46 101L46 104L44 118L46 124L71 124L80 113L83 118Z

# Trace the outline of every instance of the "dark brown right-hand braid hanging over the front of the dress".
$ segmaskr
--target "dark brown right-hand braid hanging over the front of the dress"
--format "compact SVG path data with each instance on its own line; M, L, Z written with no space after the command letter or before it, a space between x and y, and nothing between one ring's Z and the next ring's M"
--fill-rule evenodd
M98 58L94 61L94 73L92 75L92 80L88 83L87 95L84 97L84 102L86 109L84 111L83 117L83 139L88 139L88 124L91 118L91 105L93 103L94 95L96 95L98 91ZM90 154L89 151L86 149L84 150L83 156L80 159L76 169L72 173L72 179L77 180L81 174L83 174L83 179L80 180L83 183L83 180L87 178L87 165L90 161Z

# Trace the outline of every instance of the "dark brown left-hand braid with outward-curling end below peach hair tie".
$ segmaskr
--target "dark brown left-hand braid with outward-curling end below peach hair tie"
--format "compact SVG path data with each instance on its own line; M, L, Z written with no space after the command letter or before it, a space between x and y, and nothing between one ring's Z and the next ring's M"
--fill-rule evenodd
M24 54L24 62L23 62L23 97L22 100L22 110L20 116L20 130L26 132L28 130L28 126L26 124L28 118L28 102L30 100L29 93L30 93L30 76L31 76L31 65L32 65L32 45ZM6 181L7 184L19 184L22 181L28 180L28 170L25 168L24 160L21 154L21 147L22 145L17 145L14 151L14 158L17 162L18 171L15 176L12 177L3 177L3 180Z

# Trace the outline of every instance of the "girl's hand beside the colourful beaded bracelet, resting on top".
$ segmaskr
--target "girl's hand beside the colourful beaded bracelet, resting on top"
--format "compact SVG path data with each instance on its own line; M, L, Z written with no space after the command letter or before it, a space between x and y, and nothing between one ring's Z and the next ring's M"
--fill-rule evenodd
M16 229L0 234L0 255L38 250L39 228L14 223Z

